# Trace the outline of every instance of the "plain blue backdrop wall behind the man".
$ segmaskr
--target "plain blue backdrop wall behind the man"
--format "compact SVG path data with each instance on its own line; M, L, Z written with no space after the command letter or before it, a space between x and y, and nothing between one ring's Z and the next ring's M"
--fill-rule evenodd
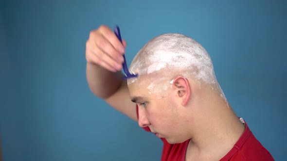
M275 160L287 153L287 3L193 0L0 1L4 161L159 161L161 141L95 97L91 30L118 24L128 64L151 38L188 35L210 53L238 116Z

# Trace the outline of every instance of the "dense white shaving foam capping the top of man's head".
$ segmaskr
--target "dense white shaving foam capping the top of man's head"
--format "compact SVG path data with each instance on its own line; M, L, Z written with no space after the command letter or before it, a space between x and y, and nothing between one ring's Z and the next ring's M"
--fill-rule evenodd
M161 69L194 73L197 80L212 82L213 64L207 51L194 39L182 34L163 34L150 40L135 56L129 70L139 75ZM132 83L137 79L132 79Z

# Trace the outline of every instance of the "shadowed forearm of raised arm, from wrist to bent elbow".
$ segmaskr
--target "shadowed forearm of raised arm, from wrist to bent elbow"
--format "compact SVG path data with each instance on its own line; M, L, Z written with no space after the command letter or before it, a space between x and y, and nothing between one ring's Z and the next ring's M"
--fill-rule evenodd
M122 84L122 73L113 73L96 64L87 63L87 81L92 93L100 98L113 95Z

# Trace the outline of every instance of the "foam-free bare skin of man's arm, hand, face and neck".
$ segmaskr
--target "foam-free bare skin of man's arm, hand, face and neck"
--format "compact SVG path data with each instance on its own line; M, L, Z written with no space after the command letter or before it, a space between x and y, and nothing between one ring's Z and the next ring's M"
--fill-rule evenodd
M150 82L126 85L119 72L124 52L107 27L90 33L87 41L87 80L95 96L128 117L140 127L149 127L170 144L190 139L186 161L218 161L229 152L244 131L244 125L219 93L199 86L191 79L177 77L167 95L159 99L146 88ZM139 106L139 120L135 103Z

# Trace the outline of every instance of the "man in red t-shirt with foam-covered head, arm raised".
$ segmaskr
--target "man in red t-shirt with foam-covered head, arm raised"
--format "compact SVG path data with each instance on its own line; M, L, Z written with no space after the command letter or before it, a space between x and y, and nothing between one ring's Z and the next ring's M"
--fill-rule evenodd
M94 95L161 138L162 161L273 161L233 112L199 43L157 36L130 65L138 77L123 81L125 47L107 26L90 32L87 80Z

